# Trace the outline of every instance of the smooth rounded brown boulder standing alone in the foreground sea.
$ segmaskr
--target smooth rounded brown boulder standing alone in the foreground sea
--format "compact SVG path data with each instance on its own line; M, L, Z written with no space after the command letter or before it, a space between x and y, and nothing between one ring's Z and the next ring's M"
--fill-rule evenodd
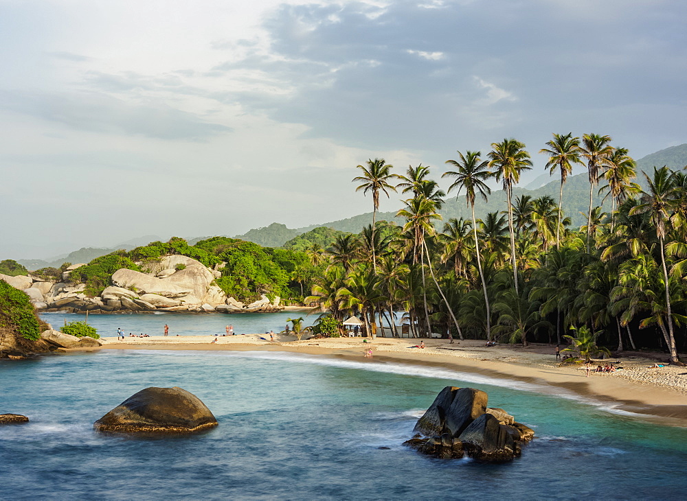
M217 426L205 404L182 388L146 388L93 423L98 432L192 433Z

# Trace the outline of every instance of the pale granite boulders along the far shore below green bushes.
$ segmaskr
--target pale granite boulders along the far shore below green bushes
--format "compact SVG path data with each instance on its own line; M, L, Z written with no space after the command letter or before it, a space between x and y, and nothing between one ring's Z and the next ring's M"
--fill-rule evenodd
M214 283L215 279L221 277L221 272L190 257L167 255L153 263L138 264L146 271L126 268L115 271L112 275L113 285L105 288L97 297L85 294L84 283L69 281L70 273L84 264L69 266L61 281L46 281L30 275L9 277L1 274L0 279L28 294L36 310L45 311L262 313L284 309L279 305L280 298L270 301L264 294L261 299L248 305L227 297Z

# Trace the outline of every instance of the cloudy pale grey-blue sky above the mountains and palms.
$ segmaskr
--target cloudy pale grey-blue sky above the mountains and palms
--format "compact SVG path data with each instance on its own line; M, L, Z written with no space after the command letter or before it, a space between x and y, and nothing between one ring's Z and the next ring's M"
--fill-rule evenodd
M0 0L0 259L372 210L515 137L687 142L687 2ZM448 183L442 185L447 187ZM399 209L401 195L381 210Z

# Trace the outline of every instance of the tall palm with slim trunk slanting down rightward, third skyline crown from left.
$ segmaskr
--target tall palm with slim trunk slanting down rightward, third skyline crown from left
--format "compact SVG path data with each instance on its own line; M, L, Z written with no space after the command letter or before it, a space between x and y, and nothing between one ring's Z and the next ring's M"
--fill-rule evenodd
M466 151L463 155L460 151L460 161L447 160L446 163L453 165L455 171L448 171L442 174L444 177L453 177L455 180L449 186L448 193L451 189L457 188L458 194L465 190L465 200L472 210L473 217L473 233L475 235L475 257L477 257L477 268L480 271L480 278L482 279L482 290L484 291L484 303L486 303L486 338L491 340L491 308L489 307L489 296L486 291L486 281L484 280L484 271L482 270L482 259L480 258L480 243L477 240L477 221L475 220L475 196L479 194L484 201L488 200L487 195L491 194L491 188L486 185L484 181L491 177L489 172L488 161L480 159L481 152Z

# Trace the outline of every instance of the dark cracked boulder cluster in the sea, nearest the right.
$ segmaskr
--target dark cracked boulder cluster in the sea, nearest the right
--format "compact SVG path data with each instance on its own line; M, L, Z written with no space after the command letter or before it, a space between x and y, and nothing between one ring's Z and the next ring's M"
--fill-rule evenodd
M447 386L418 419L418 432L405 445L438 458L510 461L534 431L500 408L488 408L487 395L475 388Z

